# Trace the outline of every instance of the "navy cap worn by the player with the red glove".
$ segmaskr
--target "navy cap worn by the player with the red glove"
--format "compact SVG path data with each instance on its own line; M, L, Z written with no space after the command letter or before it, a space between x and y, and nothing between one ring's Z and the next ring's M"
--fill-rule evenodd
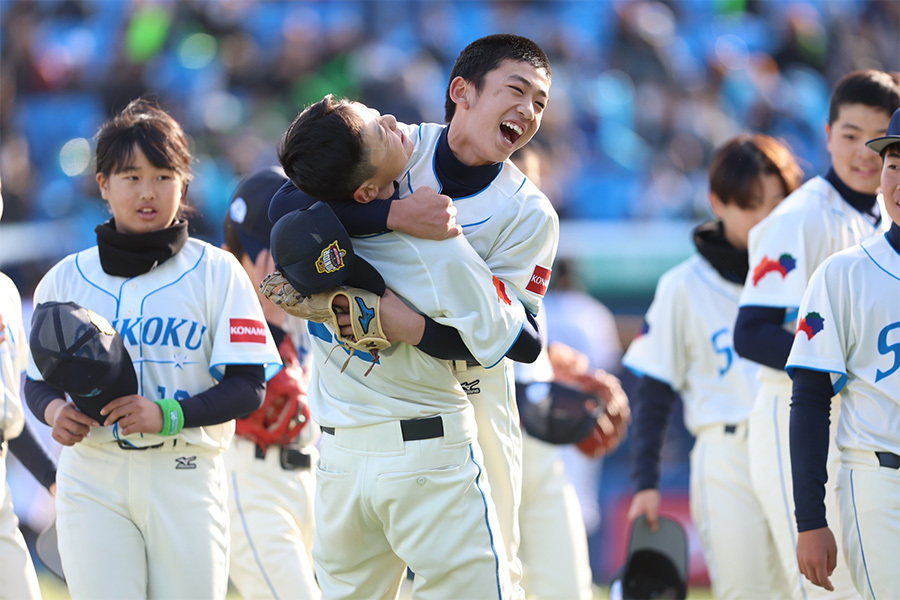
M272 222L269 221L269 202L288 181L278 167L267 167L244 177L231 196L226 227L234 227L244 252L256 260L261 250L269 247Z

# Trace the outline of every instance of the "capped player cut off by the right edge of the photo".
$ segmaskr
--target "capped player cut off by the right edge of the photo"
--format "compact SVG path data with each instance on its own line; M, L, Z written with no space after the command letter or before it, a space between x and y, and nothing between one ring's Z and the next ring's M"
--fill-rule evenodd
M834 589L837 544L824 497L831 397L840 394L841 545L856 590L874 599L900 590L900 110L887 135L866 145L884 161L881 191L892 224L813 273L787 371L800 571Z

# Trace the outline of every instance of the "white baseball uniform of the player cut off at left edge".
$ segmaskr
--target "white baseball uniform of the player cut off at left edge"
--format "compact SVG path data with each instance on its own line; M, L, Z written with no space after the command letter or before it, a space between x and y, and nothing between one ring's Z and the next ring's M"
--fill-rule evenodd
M18 437L25 424L19 393L27 361L22 299L12 280L0 273L0 433L6 440ZM39 599L37 574L6 483L7 444L0 443L0 598Z

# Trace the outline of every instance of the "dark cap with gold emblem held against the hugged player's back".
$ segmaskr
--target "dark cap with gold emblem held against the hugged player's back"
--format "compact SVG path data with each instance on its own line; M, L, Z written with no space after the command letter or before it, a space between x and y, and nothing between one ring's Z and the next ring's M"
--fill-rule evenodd
M275 266L302 294L351 285L384 295L384 279L353 252L350 235L324 202L293 210L272 227Z

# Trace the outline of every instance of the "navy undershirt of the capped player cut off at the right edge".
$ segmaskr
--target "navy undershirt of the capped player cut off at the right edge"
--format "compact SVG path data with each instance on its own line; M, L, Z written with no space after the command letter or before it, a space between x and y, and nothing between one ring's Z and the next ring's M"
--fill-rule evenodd
M900 254L900 226L892 223L885 237ZM825 527L825 463L830 437L831 376L794 369L791 396L791 465L797 531Z

